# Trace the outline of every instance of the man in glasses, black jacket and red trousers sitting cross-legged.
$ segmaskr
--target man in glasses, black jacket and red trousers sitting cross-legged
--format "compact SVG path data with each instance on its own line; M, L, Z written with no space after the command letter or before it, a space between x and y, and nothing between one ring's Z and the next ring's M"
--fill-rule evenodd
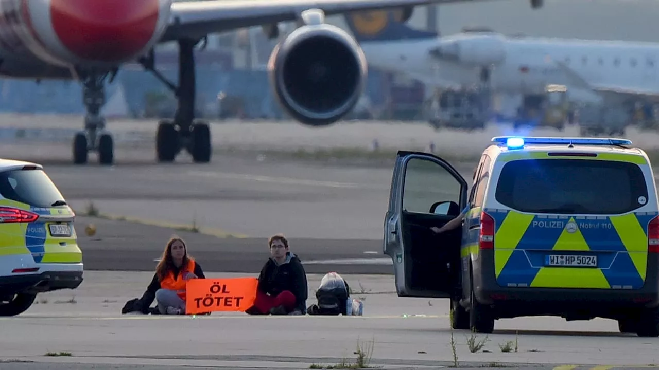
M283 234L268 240L272 255L261 269L250 315L304 315L308 287L302 263Z

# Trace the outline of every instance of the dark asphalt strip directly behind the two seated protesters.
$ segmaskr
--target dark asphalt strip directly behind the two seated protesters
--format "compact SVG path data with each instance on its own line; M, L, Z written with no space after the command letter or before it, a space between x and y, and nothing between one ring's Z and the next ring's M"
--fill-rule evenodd
M90 224L96 227L94 236L85 234ZM270 256L267 238L218 238L94 217L77 217L76 232L86 270L154 271L167 240L175 234L186 241L190 255L204 271L258 273ZM307 273L393 273L391 259L382 254L381 240L291 238L289 242Z

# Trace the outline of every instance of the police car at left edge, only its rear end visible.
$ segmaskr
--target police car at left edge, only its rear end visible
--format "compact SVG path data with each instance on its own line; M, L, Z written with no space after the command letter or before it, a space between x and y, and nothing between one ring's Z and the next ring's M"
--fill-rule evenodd
M0 316L26 311L40 292L80 285L73 219L41 165L0 159Z

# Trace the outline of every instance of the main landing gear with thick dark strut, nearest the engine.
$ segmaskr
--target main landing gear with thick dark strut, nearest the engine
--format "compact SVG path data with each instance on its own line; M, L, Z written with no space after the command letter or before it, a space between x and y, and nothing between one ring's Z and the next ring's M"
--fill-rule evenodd
M163 82L178 99L173 120L161 120L156 134L156 159L173 162L181 149L186 149L196 163L208 163L212 154L210 127L207 122L194 119L196 76L194 47L198 40L179 40L179 84L175 86L154 68L154 55L140 63Z

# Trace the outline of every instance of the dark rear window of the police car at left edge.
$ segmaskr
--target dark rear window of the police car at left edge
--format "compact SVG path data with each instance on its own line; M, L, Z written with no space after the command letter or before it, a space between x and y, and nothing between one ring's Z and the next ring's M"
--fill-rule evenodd
M32 207L52 207L62 194L42 170L0 172L0 195Z

